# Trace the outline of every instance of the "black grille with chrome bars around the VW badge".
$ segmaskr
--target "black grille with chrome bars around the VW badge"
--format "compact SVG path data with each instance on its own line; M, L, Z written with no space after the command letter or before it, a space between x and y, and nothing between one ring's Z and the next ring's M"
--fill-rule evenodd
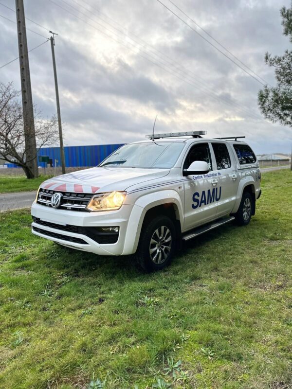
M63 195L59 208L69 211L86 211L86 207L92 197L92 193L60 192L41 188L38 192L37 203L52 207L51 198L56 192Z

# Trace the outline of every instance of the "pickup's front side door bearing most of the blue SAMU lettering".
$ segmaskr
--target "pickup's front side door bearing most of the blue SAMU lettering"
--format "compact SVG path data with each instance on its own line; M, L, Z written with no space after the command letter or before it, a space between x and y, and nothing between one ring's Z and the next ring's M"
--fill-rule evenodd
M218 179L212 172L213 161L209 143L196 142L190 148L183 161L182 175L183 169L187 169L194 161L207 162L210 172L205 175L184 177L184 231L215 219L217 212L216 185Z

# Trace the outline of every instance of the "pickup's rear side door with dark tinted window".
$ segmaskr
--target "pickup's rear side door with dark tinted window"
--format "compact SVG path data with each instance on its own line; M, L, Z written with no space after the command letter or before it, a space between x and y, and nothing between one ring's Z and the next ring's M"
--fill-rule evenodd
M236 202L238 172L228 147L229 144L223 142L212 142L218 177L217 217L230 213Z

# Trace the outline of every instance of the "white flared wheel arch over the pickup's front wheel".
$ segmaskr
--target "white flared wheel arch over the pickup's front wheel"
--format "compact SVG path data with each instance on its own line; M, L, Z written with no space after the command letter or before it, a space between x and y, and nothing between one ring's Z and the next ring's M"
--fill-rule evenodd
M123 251L124 255L136 252L146 212L151 208L167 203L173 203L175 205L176 217L180 221L181 226L183 226L183 204L181 197L176 191L167 189L142 195L136 200L129 217Z

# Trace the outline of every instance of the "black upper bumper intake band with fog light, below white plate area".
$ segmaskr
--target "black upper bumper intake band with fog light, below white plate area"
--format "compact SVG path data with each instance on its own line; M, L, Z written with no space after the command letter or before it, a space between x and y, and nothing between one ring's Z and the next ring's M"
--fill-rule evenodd
M35 216L33 216L33 221L41 226L54 228L55 230L61 230L61 231L65 231L65 232L74 232L76 234L86 235L90 239L99 243L100 245L109 245L109 244L116 243L118 241L118 238L119 238L119 232L102 232L99 227L79 227L79 226L72 226L70 224L67 224L66 226L62 226L60 224L46 222L46 221L41 220ZM33 228L36 228L36 227L33 227ZM57 235L59 235L59 234L57 234ZM61 236L64 237L65 235L61 235ZM60 238L60 239L65 239L65 238ZM66 238L66 240L68 240L68 239Z

